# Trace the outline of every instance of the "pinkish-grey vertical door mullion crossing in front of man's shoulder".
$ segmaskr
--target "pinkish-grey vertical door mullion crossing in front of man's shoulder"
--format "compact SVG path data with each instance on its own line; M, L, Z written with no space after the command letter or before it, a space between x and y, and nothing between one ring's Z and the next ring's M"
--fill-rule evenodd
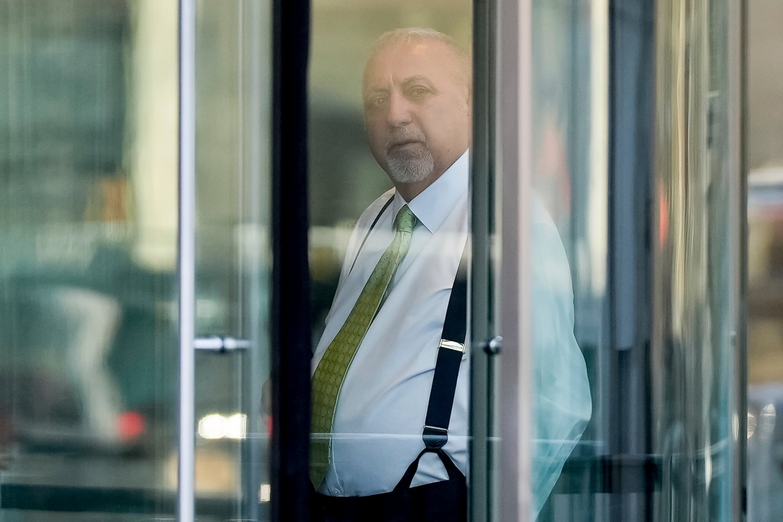
M500 2L498 50L500 123L497 150L502 183L500 324L500 513L502 520L529 520L534 363L530 340L529 230L531 201L532 0Z

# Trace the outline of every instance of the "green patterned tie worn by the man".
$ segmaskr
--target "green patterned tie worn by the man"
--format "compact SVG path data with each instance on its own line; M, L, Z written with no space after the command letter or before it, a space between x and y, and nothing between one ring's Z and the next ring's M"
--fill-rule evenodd
M408 253L410 236L416 226L416 216L408 205L397 212L395 218L396 234L391 245L381 256L370 279L364 285L359 299L353 306L345 323L334 336L318 363L316 372L312 375L312 425L311 433L315 436L310 442L310 480L316 489L326 477L330 462L330 446L334 408L337 406L337 395L340 393L348 366L353 360L359 344L362 343L367 328L381 306L391 277L397 266Z

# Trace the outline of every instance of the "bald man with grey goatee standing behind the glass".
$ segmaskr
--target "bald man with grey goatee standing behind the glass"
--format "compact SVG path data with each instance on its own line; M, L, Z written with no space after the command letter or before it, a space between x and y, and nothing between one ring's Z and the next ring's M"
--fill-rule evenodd
M433 375L467 241L470 82L467 56L451 38L425 29L381 35L366 65L363 100L370 150L395 189L359 218L312 360L311 479L317 520L466 518L467 353L456 357L447 437L439 439L445 445L435 451L433 437L422 434L431 404L443 404L440 397L449 395L449 384L434 386ZM539 215L546 212L539 209ZM541 297L547 301L541 307L558 331L540 340L546 343L544 352L552 352L543 357L556 357L561 367L538 372L537 378L550 381L539 386L539 403L547 410L543 417L556 425L539 433L568 440L551 453L558 460L547 470L546 498L589 418L590 397L572 334L565 252L551 221L540 223L539 256L554 256L561 271L555 277L543 274L543 292L534 299L551 294ZM541 353L538 346L536 353ZM577 388L584 386L571 393L568 413L561 414L561 396L548 388L568 388L563 379L573 382L575 375ZM454 393L455 383L450 387ZM437 400L429 401L433 396ZM423 452L424 440L433 451Z

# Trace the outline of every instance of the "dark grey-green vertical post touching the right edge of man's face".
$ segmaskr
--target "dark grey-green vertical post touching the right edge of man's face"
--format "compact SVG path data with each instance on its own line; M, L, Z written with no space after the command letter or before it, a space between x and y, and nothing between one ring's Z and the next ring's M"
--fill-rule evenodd
M495 233L496 0L473 2L473 140L471 143L471 474L472 522L496 520L493 448L496 366L485 340L498 335L493 310L491 238Z

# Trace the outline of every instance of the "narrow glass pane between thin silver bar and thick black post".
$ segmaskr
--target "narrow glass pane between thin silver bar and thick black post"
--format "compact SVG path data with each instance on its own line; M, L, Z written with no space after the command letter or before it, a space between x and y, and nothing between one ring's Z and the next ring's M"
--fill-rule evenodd
M197 2L196 336L236 339L196 355L199 520L269 520L269 9Z

